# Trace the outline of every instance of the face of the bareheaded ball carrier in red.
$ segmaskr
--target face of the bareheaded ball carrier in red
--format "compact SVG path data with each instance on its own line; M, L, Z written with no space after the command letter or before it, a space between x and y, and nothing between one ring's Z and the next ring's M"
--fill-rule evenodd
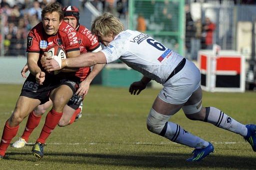
M58 31L58 27L62 20L59 20L58 12L46 13L42 18L42 26L48 35L54 35Z

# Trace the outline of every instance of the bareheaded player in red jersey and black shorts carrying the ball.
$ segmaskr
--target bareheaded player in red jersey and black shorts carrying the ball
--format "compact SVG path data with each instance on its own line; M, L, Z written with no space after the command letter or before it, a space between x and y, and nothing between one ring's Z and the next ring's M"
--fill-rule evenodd
M78 38L75 29L63 22L63 10L58 2L46 5L42 9L42 22L34 26L27 36L27 66L30 71L25 80L15 109L6 121L0 142L0 159L4 157L7 147L16 136L20 122L32 110L49 100L52 108L48 112L41 134L33 146L32 153L38 158L43 156L43 144L58 124L65 104L75 91L80 79L74 76L69 68L63 69L59 74L49 74L40 64L44 51L52 45L62 47L67 58L80 54ZM74 69L77 70L77 69Z

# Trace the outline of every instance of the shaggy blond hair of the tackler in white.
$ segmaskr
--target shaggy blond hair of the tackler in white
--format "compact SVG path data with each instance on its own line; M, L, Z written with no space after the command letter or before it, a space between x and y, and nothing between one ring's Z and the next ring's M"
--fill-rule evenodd
M109 12L97 16L91 25L91 32L97 36L109 36L111 33L117 35L121 31L123 31L123 24Z

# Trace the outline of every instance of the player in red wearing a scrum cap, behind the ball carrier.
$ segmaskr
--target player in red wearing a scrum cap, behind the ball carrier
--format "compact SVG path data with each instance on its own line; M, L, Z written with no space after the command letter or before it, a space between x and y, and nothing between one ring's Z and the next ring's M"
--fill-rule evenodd
M85 52L97 52L101 50L101 46L99 45L96 36L92 35L91 32L79 24L79 10L75 6L66 6L63 8L64 11L64 21L69 23L73 28L75 28L78 43L80 47L80 53ZM81 97L77 95L73 95L73 97L69 100L67 105L64 107L63 115L58 122L58 126L63 127L66 125L70 125L74 122L75 119L79 115L81 115L81 104L83 99L83 95L87 94L89 85L93 78L98 74L98 72L104 67L104 64L97 64L93 67L93 70L90 71L90 67L82 67L76 71L75 76L79 77L81 83L79 85L79 91L81 91ZM25 77L25 72L27 72L27 65L23 67L21 70L22 77ZM26 127L22 136L12 144L14 148L22 148L28 141L28 138L34 128L36 128L39 124L41 115L52 105L51 100L44 103L43 105L39 105L29 114ZM77 116L78 115L78 116Z

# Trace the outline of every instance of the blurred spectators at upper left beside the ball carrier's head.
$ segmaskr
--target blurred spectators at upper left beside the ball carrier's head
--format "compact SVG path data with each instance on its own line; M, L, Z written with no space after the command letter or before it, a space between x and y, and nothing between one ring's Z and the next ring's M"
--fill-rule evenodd
M5 56L25 56L28 31L41 20L41 9L55 0L2 0L0 14L3 20Z

